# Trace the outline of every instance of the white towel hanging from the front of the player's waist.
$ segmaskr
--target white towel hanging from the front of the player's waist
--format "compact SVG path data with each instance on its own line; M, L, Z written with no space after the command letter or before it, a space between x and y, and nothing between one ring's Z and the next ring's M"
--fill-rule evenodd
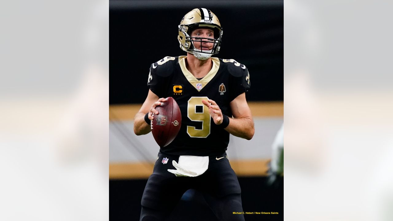
M209 157L180 156L179 162L172 160L176 169L168 169L176 177L197 177L202 175L209 167Z

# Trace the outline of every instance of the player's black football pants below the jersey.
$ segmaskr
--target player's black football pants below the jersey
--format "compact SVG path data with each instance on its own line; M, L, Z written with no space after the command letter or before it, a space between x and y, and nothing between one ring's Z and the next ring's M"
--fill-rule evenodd
M218 220L244 221L242 214L233 214L243 211L241 189L228 158L224 156L226 153L209 157L208 170L198 177L176 177L167 169L176 169L172 160L178 162L179 156L160 152L143 192L140 221L167 219L184 192L189 189L202 193ZM168 158L166 164L162 163L163 158Z

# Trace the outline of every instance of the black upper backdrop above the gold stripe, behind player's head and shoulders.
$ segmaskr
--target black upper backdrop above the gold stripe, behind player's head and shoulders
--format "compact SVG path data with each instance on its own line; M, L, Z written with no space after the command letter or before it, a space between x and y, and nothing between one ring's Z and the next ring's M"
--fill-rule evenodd
M223 42L216 57L247 66L252 85L246 98L283 100L283 1L112 0L109 6L110 104L143 103L150 64L185 55L178 24L197 7L220 19Z

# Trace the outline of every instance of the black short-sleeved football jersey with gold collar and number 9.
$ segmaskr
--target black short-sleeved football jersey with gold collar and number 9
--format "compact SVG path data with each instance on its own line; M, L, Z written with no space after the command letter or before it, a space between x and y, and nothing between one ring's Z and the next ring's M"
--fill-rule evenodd
M198 80L187 70L186 57L165 57L150 66L150 90L159 98L173 97L182 113L178 135L160 151L193 156L224 153L229 133L214 123L202 100L216 101L222 113L231 117L230 102L250 88L250 74L246 66L233 59L212 57L210 72Z

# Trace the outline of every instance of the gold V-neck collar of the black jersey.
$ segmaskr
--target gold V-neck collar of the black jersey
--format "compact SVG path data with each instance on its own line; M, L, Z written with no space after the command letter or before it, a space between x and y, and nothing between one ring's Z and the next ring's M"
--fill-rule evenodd
M220 67L220 60L217 57L212 57L211 61L213 61L213 67L204 78L198 81L198 79L196 79L195 76L193 76L193 74L191 74L191 72L189 72L189 70L186 68L185 66L186 57L187 56L179 56L179 65L180 68L182 69L185 78L187 78L188 82L191 85L193 85L193 87L195 87L196 90L198 90L196 88L197 83L202 84L202 89L203 89L211 81L211 79L213 79L213 77L217 74Z

